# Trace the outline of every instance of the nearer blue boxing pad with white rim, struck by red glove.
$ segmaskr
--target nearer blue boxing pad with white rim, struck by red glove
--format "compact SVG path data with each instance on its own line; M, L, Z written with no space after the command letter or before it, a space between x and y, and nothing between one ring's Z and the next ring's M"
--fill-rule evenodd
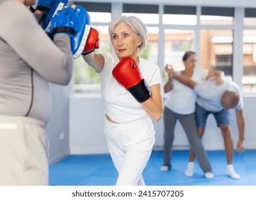
M52 18L50 34L64 33L70 36L74 59L82 54L90 32L90 16L83 6L65 6Z

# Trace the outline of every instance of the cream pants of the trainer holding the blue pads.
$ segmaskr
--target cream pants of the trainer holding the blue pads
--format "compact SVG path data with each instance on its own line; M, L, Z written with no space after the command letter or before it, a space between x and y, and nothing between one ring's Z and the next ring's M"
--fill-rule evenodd
M0 116L0 185L48 185L45 123L24 116Z

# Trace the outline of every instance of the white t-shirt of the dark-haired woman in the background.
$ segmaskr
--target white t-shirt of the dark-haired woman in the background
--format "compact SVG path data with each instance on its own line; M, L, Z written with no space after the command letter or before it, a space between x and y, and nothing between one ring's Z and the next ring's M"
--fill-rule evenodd
M208 69L194 69L191 79L200 82L207 78ZM181 71L177 72L181 74ZM196 93L188 86L181 84L176 79L172 80L174 88L170 91L169 97L164 102L165 106L177 114L191 114L196 109Z

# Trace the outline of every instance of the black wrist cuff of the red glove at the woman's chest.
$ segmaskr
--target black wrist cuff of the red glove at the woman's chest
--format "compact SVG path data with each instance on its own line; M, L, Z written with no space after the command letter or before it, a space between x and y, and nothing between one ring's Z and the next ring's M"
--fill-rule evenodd
M140 103L148 100L150 97L144 79L142 79L142 81L136 84L135 86L129 88L128 91L130 91L133 97Z

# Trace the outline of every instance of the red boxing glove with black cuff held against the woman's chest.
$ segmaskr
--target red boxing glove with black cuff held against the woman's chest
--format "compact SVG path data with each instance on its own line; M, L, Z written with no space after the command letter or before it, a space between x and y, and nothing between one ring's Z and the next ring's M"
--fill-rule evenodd
M150 94L145 81L141 76L136 61L131 57L122 59L112 71L115 79L131 92L133 97L140 103L149 99Z

